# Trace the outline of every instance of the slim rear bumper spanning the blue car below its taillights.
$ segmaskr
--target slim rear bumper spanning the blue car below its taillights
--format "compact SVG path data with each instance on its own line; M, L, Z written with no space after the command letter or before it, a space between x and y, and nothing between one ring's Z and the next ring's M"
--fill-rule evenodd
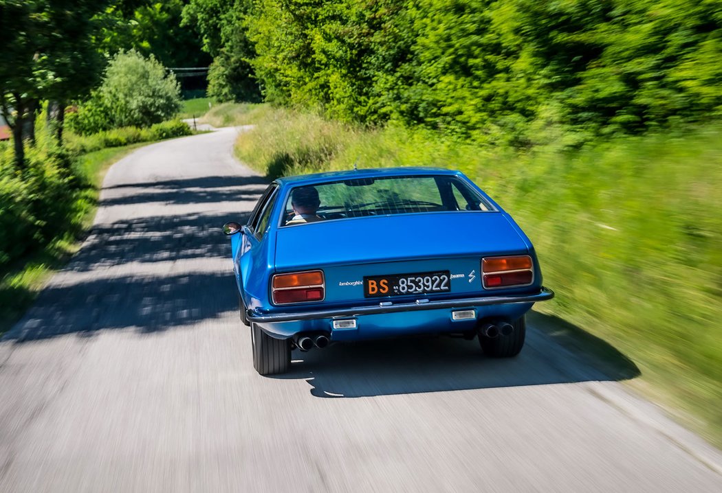
M466 308L472 306L503 305L508 303L536 303L554 298L554 291L542 287L539 293L531 295L484 296L484 298L461 298L456 300L417 300L414 303L397 303L386 301L373 306L357 306L352 308L336 308L334 310L303 311L297 314L259 314L248 310L248 321L258 324L273 322L333 319L336 317L391 314L398 311L436 310L438 308Z

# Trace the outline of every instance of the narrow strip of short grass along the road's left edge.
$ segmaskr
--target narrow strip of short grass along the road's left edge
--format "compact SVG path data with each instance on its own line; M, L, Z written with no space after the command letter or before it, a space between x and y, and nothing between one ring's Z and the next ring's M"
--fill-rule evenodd
M143 146L105 148L79 156L74 166L77 172L93 185L80 190L77 196L76 213L81 216L82 231L73 231L52 241L45 248L15 259L0 270L0 336L7 332L25 314L37 298L48 278L61 269L68 259L77 252L82 236L92 225L97 210L100 185L110 165Z

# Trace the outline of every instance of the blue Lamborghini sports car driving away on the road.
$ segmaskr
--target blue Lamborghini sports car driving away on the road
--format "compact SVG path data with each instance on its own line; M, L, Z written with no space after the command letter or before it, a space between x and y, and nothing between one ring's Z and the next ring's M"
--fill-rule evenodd
M524 314L554 296L521 228L448 169L279 178L223 230L261 375L287 371L292 350L406 334L515 356Z

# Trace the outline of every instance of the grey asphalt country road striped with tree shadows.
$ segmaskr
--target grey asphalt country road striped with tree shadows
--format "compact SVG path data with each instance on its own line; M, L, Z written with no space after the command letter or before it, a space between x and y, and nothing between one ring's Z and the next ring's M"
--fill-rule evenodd
M238 129L114 165L91 236L0 342L0 492L721 492L720 454L534 329L514 360L407 339L258 376L230 246ZM302 247L300 247L302 248Z

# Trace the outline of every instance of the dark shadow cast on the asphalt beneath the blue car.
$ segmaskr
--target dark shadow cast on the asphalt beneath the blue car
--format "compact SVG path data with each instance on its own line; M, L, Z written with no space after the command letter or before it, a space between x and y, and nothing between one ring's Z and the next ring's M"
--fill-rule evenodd
M594 347L567 349L569 341L576 340L568 324L557 319L562 330L551 335L537 327L540 320L553 326L554 319L539 317L544 316L530 316L526 345L513 358L483 355L476 339L383 339L295 350L290 372L273 378L303 379L313 396L339 398L622 381L640 375L628 357L601 339L594 338ZM575 327L579 331L583 332Z

